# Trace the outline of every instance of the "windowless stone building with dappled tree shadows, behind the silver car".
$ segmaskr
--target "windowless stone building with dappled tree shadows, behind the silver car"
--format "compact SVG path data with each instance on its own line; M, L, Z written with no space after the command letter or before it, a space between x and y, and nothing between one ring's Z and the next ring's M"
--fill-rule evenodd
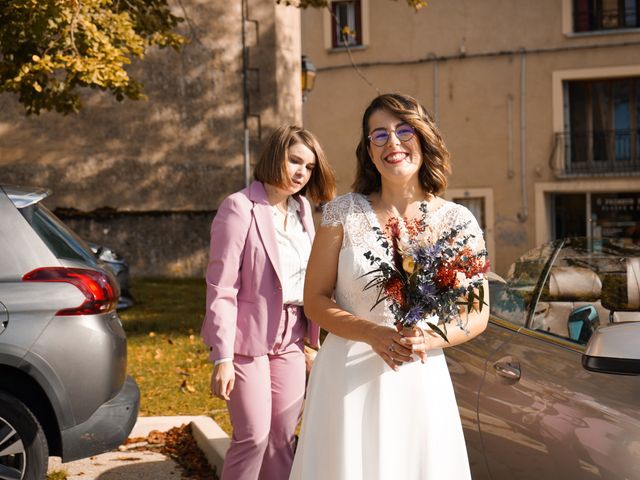
M77 115L26 117L0 95L0 183L51 189L45 204L133 275L201 276L213 214L244 186L260 139L302 121L297 8L180 4L190 43L132 67L147 101L86 92Z

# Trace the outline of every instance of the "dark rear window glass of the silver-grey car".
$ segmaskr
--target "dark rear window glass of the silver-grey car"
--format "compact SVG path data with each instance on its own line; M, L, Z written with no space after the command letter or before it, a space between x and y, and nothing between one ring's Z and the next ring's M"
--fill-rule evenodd
M96 265L89 246L44 205L21 208L20 213L57 258Z

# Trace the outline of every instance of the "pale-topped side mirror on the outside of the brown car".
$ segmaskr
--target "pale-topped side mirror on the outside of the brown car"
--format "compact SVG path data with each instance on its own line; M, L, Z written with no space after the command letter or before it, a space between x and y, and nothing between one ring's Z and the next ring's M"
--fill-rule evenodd
M582 355L582 366L591 372L640 375L640 322L598 328Z

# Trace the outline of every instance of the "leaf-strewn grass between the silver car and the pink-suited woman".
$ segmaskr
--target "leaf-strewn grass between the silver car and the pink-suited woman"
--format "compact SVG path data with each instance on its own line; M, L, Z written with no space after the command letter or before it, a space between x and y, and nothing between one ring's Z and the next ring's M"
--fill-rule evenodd
M134 279L131 290L136 303L120 318L140 415L209 415L230 435L226 404L210 395L212 365L200 339L204 280Z

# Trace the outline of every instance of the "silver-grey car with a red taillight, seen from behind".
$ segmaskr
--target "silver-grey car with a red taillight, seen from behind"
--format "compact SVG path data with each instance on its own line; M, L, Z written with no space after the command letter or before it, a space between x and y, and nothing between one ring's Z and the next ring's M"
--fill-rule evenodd
M0 186L0 478L116 447L139 407L115 277L46 195Z

